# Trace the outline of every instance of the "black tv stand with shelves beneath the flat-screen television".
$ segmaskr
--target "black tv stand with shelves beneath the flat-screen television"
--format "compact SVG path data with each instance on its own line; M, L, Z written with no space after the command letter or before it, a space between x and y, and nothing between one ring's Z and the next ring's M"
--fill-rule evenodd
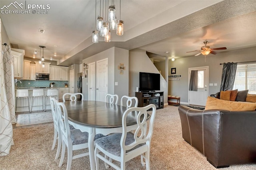
M154 104L156 108L164 108L164 92L135 92L138 98L138 107Z

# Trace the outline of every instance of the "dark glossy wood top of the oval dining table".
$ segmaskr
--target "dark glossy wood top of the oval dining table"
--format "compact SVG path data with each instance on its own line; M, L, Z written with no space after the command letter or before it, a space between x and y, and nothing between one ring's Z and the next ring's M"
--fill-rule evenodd
M122 115L126 107L99 101L64 102L70 121L94 128L122 127ZM136 124L138 112L128 114L127 126ZM148 114L147 119L150 118Z

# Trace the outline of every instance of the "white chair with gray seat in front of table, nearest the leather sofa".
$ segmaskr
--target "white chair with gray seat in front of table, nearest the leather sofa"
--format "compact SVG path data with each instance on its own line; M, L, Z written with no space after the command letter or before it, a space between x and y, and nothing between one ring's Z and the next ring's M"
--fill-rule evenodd
M147 132L147 110L151 108L152 114L149 120L149 129ZM127 130L126 119L129 117L129 114L134 114L135 112L137 112L136 120L138 127L135 130L135 133L131 133ZM122 133L114 133L113 135L108 135L94 141L96 170L99 169L98 158L117 170L125 170L125 163L136 156L141 156L142 165L146 165L146 169L150 170L150 141L153 134L155 115L156 106L154 104L150 104L145 107L128 108L122 116ZM108 160L104 158L104 156L99 154L99 151L109 158L120 162L121 166L118 167L111 161L111 159ZM146 163L144 162L144 159Z

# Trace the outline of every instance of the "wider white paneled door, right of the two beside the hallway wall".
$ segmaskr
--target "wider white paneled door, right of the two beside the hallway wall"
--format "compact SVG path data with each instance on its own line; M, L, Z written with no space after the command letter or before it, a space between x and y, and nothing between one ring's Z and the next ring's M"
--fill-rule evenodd
M108 94L108 58L96 62L96 100L105 101Z

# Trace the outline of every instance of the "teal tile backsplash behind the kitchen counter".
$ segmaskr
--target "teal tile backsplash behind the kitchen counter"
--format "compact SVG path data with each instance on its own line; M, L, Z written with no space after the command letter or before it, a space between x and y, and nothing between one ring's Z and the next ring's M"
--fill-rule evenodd
M68 81L54 81L54 80L20 80L17 82L17 87L49 87L50 83L54 82L54 87L64 88ZM30 84L29 84L30 83Z

